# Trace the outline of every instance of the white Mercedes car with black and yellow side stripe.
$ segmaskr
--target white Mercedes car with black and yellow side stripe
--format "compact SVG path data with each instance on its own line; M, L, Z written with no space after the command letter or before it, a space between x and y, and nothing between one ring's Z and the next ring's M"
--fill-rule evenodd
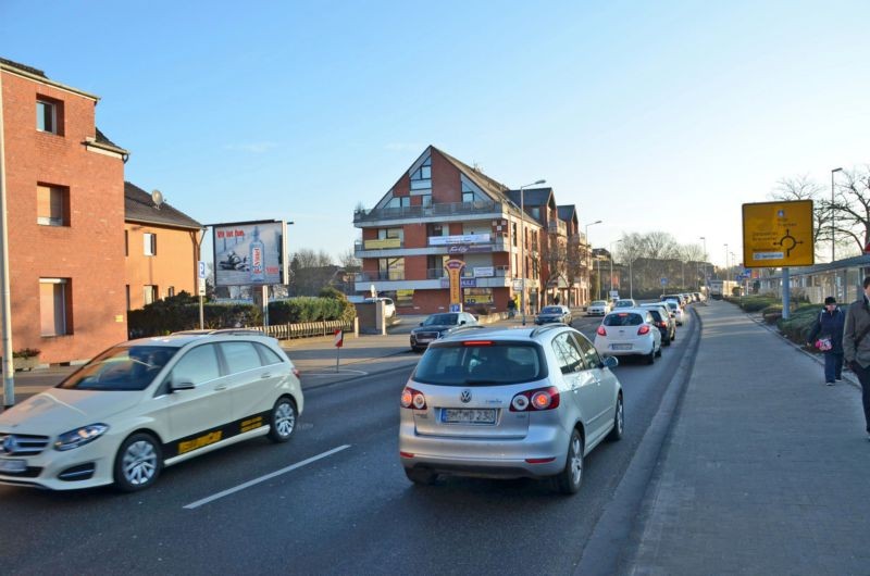
M0 483L153 485L163 466L257 436L290 439L299 372L274 338L141 338L0 414Z

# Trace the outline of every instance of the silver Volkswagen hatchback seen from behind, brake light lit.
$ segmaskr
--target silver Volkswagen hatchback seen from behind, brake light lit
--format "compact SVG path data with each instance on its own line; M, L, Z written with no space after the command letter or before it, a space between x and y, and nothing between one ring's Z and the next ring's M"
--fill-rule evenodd
M583 456L622 438L617 364L561 324L431 343L401 393L405 473L417 484L439 474L551 478L575 493Z

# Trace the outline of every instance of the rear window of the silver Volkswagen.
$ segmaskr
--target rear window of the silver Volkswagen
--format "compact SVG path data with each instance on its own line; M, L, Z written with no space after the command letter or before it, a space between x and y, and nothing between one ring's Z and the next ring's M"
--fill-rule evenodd
M546 376L544 351L534 342L459 341L430 345L412 378L444 386L498 386Z

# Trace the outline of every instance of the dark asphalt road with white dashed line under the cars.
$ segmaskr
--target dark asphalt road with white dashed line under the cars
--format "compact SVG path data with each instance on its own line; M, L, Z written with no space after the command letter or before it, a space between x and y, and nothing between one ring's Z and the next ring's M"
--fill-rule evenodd
M574 325L592 335L599 322ZM412 486L397 455L406 366L309 387L289 443L257 439L203 455L145 492L0 486L4 572L569 574L597 519L619 505L612 494L695 325L654 365L616 368L626 434L588 456L576 497L532 480Z

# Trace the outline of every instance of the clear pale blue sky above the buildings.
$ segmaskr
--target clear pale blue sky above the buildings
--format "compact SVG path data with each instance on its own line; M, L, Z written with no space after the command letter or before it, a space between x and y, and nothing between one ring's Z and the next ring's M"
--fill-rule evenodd
M99 96L127 180L203 224L293 221L290 252L337 263L353 209L433 145L546 179L602 221L596 248L667 231L722 265L743 203L870 164L868 22L866 1L0 0L0 57Z

